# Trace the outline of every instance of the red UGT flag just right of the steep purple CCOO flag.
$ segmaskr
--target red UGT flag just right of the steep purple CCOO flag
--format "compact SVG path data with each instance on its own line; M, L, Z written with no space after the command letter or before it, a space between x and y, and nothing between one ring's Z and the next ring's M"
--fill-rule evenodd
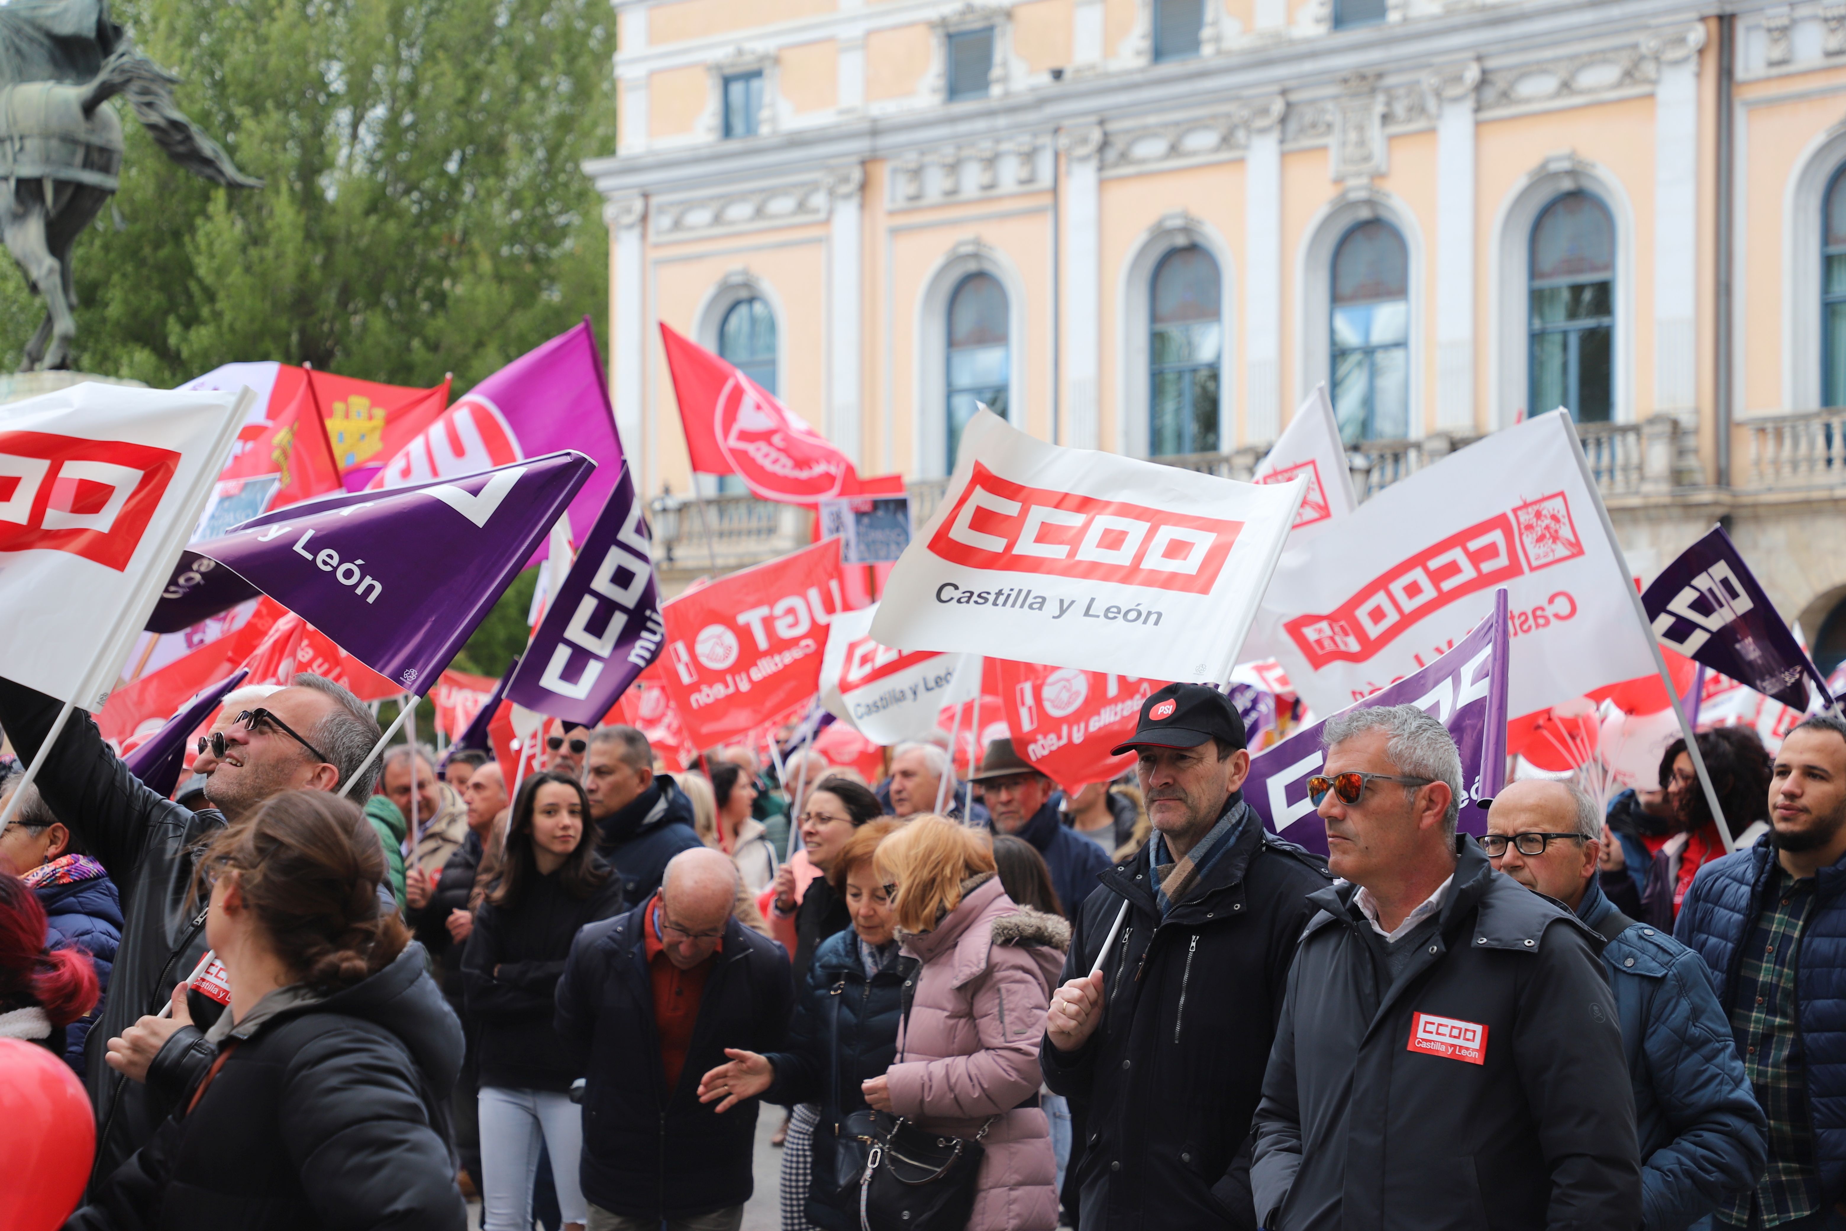
M665 604L661 675L700 747L724 744L820 692L840 611L840 541L733 572Z

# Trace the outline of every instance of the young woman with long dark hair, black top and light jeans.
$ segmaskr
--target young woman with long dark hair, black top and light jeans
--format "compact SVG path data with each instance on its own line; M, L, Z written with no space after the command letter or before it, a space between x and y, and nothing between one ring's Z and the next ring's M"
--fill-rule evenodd
M589 1214L578 1181L583 1111L552 1028L557 976L585 923L622 912L622 882L596 858L589 799L570 775L526 779L506 825L498 882L474 915L462 954L471 1024L480 1032L482 1231L532 1227L539 1144L550 1152L569 1231Z

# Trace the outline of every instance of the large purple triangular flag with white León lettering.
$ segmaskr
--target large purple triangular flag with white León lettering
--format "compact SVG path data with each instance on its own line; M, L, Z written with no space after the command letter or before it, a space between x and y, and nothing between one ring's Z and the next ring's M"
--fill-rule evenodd
M594 469L583 454L556 452L292 504L194 552L421 696Z

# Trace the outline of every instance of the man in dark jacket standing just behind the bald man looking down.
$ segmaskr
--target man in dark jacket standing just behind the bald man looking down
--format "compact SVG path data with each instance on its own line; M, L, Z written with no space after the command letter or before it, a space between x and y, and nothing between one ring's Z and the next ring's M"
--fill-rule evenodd
M653 749L637 727L591 733L583 792L600 831L596 851L615 866L629 902L653 897L670 858L705 845L692 829L692 801L653 771Z

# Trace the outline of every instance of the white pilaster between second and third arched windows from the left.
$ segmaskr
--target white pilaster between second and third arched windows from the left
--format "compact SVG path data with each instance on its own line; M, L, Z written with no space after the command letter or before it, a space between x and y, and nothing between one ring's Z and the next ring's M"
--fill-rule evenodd
M1054 445L1097 448L1102 421L1097 386L1102 371L1102 125L1058 133L1063 149L1063 439ZM1013 419L1025 423L1025 408Z

